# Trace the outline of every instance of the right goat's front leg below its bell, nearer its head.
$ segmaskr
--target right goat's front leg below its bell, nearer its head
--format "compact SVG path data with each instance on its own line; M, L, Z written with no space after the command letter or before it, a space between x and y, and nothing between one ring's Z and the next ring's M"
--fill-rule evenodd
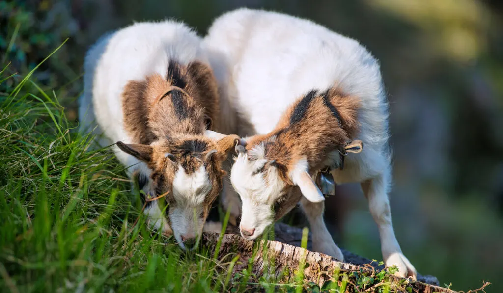
M328 229L326 229L325 222L323 221L325 203L311 203L302 197L300 204L311 226L313 250L343 261L344 255L337 244L333 242L332 236L328 232Z

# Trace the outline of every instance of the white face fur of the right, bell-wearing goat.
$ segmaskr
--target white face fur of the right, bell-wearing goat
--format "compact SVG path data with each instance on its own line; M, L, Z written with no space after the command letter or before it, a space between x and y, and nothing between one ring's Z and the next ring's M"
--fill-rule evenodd
M248 155L254 160L248 161ZM259 145L248 153L238 154L232 165L230 180L242 202L240 227L255 229L255 233L249 237L242 235L247 239L257 238L274 222L272 208L283 195L282 190L286 185L274 168L269 168L266 173L261 171L254 174L266 163L264 147Z

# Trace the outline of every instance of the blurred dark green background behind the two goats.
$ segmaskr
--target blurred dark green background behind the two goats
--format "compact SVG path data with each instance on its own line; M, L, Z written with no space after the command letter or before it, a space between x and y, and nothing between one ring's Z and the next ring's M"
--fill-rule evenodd
M359 40L381 62L391 106L391 208L404 254L454 289L503 291L503 4L474 0L0 1L0 62L34 74L76 122L82 61L103 33L177 18L204 35L237 8L311 19ZM10 80L8 82L14 82ZM9 86L5 83L0 87ZM0 88L2 92L2 88ZM358 184L338 186L326 222L341 246L380 259Z

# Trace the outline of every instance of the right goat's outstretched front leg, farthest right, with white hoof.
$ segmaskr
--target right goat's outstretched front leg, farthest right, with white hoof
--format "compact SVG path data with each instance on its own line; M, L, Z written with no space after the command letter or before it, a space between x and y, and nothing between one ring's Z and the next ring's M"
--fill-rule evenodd
M391 211L387 189L389 186L389 175L387 173L366 180L361 183L363 193L369 201L369 208L374 221L379 229L381 238L381 252L386 266L396 265L400 277L412 277L416 279L416 271L408 259L403 255L400 245L396 240L391 221Z

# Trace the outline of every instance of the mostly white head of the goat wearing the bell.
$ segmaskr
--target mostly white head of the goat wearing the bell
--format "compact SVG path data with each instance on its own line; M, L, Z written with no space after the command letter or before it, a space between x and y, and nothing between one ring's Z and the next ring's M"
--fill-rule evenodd
M231 183L241 198L241 235L255 239L292 210L301 197L318 203L324 196L310 174L307 158L296 155L275 137L252 137L253 144L236 147ZM246 144L241 140L242 144ZM341 146L359 152L363 144Z

